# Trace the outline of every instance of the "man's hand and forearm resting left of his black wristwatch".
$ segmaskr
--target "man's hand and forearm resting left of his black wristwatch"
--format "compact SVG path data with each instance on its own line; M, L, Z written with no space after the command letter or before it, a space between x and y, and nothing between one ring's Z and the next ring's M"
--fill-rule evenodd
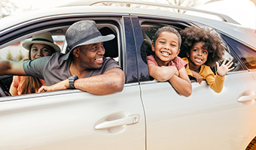
M69 80L63 80L59 83L54 84L53 86L41 86L41 88L38 89L38 93L52 92L52 91L58 91L58 90L63 90L68 88L69 88Z

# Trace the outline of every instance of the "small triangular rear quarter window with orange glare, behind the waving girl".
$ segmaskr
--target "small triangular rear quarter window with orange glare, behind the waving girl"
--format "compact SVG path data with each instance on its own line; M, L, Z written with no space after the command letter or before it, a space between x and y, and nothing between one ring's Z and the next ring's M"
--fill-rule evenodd
M227 43L229 43L231 49L236 52L240 58L240 61L245 65L247 69L256 69L256 49L251 49L248 46L245 46L224 34L222 37L224 37Z

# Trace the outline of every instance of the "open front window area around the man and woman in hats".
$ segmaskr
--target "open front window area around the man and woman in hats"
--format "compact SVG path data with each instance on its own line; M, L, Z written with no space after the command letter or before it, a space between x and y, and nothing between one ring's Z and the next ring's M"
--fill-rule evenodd
M118 40L120 32L118 31L117 26L114 26L110 23L97 23L97 27L99 28L99 31L102 35L107 34L114 34L115 38L114 40L110 40L108 42L104 43L105 47L105 57L114 58L115 61L120 62L119 57L119 46L120 45L120 39ZM69 26L58 26L54 28L47 28L42 29L41 31L35 31L31 32L29 34L25 34L25 36L20 37L17 35L17 37L14 37L14 40L11 41L11 43L8 46L3 47L0 49L0 52L2 55L0 55L0 59L3 60L11 60L11 61L22 61L24 59L29 58L29 50L25 49L23 47L23 43L26 41L32 40L32 36L34 34L39 34L44 31L50 31L50 33L53 36L54 43L56 43L59 48L61 49L62 53L67 52L67 43L65 38L66 29L69 28ZM12 75L8 76L1 76L0 80L4 83L5 88L7 91L9 91L11 83L12 83Z

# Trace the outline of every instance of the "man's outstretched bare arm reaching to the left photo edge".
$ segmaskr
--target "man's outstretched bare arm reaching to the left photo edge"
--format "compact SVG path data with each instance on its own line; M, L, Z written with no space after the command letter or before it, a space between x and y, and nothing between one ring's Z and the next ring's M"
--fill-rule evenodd
M0 60L0 75L26 75L23 69L23 62Z

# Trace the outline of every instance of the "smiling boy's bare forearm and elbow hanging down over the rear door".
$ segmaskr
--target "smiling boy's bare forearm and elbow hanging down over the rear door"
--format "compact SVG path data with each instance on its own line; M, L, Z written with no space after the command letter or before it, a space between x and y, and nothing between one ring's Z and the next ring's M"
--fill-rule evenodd
M169 82L180 95L188 97L192 93L192 86L187 76L187 71L183 67L178 72L179 76L174 75L171 79L169 79Z

